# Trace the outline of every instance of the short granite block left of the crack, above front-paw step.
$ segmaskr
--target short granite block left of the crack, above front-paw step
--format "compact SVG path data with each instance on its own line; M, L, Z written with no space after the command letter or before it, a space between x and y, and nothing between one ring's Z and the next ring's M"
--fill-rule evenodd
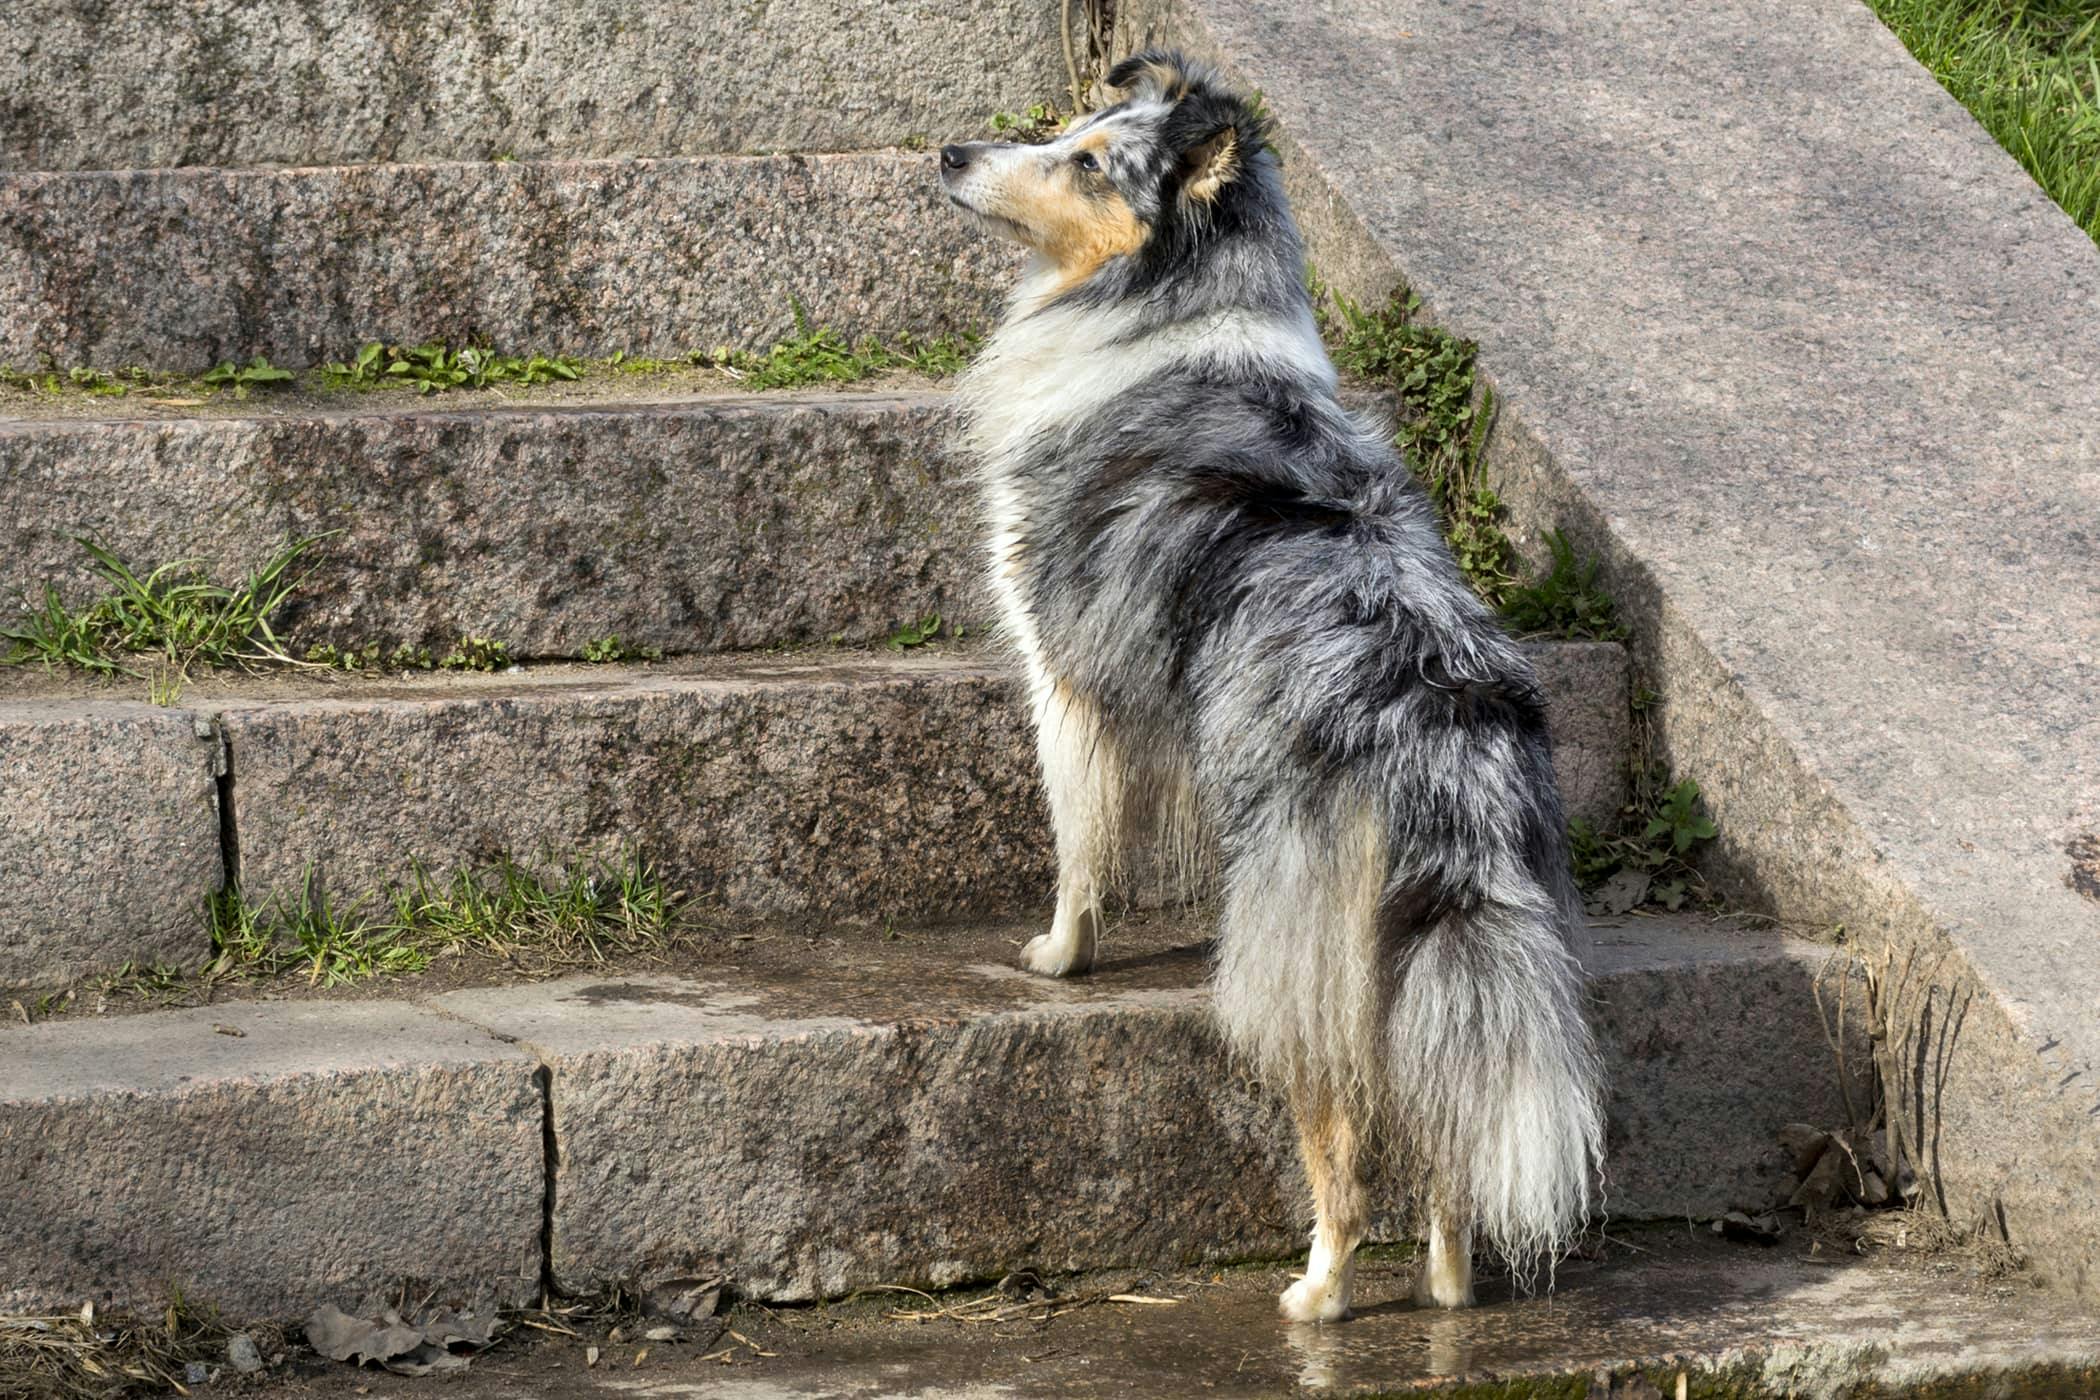
M0 987L208 955L216 758L187 709L0 701Z

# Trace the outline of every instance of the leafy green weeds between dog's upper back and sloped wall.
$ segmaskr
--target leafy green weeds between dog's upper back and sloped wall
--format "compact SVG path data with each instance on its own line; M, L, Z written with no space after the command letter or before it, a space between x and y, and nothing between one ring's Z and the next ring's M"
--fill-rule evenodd
M1522 565L1502 529L1502 497L1480 470L1495 399L1474 403L1474 344L1418 321L1422 300L1411 292L1396 292L1380 311L1327 294L1317 277L1312 294L1336 365L1396 399L1407 466L1430 493L1466 581L1499 607Z

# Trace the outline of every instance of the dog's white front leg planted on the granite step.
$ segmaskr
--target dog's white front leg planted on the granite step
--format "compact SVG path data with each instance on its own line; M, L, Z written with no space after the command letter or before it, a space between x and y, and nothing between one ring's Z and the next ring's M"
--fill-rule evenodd
M1056 915L1021 949L1021 966L1073 976L1094 966L1100 894L1121 842L1124 764L1100 714L1071 686L1035 678L1035 754L1056 833Z

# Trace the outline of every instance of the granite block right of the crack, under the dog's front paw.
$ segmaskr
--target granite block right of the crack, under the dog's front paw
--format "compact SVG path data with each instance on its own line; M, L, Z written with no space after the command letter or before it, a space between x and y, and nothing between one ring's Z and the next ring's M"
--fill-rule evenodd
M708 980L437 1005L552 1068L571 1289L722 1270L806 1299L1298 1249L1296 1138L1218 1047L1201 947L1113 930L1102 968L1048 982L1012 968L1027 932L758 945ZM1785 1035L1821 951L1665 921L1598 942L1613 1217L1737 1205L1781 1123L1833 1112L1821 1037Z

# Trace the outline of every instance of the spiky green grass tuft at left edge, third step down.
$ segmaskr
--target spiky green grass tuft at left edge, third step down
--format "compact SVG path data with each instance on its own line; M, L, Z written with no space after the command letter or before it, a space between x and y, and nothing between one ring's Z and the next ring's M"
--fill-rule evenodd
M128 655L158 655L176 676L200 663L290 661L271 630L271 615L298 590L292 565L321 539L326 535L294 539L239 584L223 586L206 579L197 560L174 560L141 575L109 548L76 537L74 544L94 560L103 596L71 609L46 584L27 617L0 630L0 640L8 642L0 661L124 676L139 674L124 665Z

